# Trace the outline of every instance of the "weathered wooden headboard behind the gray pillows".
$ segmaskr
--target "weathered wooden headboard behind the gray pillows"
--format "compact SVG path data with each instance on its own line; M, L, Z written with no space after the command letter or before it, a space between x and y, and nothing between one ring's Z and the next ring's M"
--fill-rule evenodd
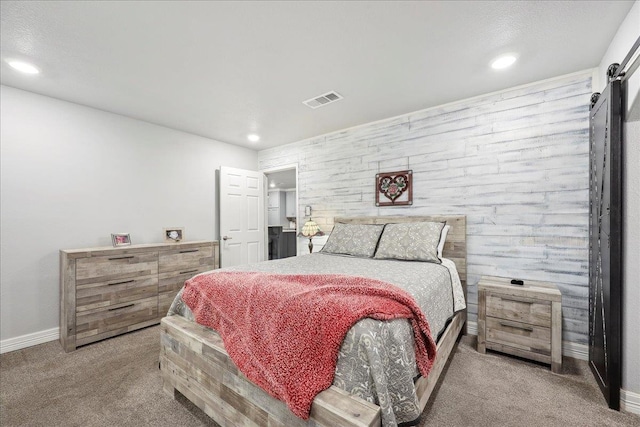
M356 216L336 217L341 224L394 224L401 222L446 222L451 226L442 255L456 264L460 281L467 294L467 217L464 215L442 216Z

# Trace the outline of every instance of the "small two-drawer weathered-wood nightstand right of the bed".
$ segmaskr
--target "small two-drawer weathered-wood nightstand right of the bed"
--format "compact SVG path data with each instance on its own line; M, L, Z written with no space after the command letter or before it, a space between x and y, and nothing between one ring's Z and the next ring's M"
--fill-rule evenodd
M562 302L552 283L483 276L478 282L478 351L508 353L562 370Z

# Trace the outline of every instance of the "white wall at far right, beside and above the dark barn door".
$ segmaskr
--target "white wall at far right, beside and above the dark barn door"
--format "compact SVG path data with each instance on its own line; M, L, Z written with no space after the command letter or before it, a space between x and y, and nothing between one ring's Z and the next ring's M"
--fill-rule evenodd
M606 86L605 73L610 64L621 63L633 43L640 37L640 1L636 1L613 38L598 67L600 85ZM628 121L623 128L623 228L624 273L622 310L622 388L640 394L640 69L631 76L627 92ZM640 395L638 396L640 405ZM640 410L640 406L636 408Z

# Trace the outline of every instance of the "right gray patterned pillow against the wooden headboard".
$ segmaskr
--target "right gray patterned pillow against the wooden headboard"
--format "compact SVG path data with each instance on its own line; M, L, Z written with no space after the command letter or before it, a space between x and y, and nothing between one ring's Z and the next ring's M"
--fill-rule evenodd
M440 264L438 242L443 227L442 222L387 224L374 258Z

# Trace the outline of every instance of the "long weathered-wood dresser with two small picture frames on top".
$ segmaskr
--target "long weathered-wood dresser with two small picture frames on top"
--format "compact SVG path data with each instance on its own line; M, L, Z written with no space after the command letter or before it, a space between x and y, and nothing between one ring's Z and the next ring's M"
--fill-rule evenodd
M185 280L219 268L214 241L60 251L65 351L160 322Z

